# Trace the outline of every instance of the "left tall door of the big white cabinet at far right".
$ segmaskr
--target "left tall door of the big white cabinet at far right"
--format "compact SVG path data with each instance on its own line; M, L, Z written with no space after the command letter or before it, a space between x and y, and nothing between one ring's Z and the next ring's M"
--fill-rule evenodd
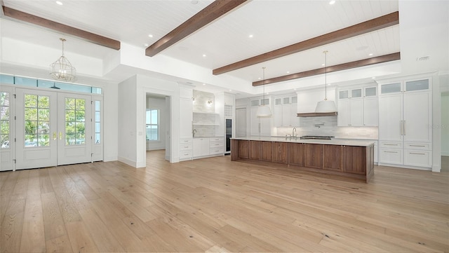
M379 97L379 139L402 141L402 94Z

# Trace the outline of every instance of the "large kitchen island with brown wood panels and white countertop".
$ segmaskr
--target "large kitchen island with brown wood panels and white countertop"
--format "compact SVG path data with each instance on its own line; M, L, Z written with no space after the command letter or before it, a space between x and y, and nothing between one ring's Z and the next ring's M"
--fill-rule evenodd
M298 170L344 175L368 183L374 175L374 142L299 137L232 138L231 160L280 163Z

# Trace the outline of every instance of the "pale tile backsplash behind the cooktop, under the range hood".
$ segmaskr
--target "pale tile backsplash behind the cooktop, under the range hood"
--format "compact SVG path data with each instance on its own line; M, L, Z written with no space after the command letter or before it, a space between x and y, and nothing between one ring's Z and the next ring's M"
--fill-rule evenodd
M292 134L293 128L274 128L274 135L286 136ZM296 127L298 136L322 135L347 139L377 139L377 127L337 127L337 117L307 117L300 118Z

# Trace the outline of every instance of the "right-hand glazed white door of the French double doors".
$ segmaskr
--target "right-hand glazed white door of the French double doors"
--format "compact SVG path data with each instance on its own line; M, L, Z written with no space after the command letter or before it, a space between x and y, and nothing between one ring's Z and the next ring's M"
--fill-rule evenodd
M58 165L91 162L91 96L58 93L58 106Z

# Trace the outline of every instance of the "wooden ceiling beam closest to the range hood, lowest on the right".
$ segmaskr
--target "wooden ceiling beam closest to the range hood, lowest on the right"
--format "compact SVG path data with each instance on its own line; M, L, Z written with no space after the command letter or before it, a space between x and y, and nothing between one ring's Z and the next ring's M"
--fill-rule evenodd
M364 67L372 64L382 63L382 62L391 62L394 60L401 60L401 53L391 53L389 55L382 55L377 57L371 57L368 59L363 60L356 60L354 62L346 62L342 64L337 64L334 66L329 66L327 73L335 72L335 71L342 71L345 69L354 69L357 67ZM262 86L263 84L270 84L270 83L279 83L283 81L290 81L297 78L304 78L307 76L316 76L319 74L326 73L326 68L320 68L320 69L312 69L308 71L303 71L300 73L295 74L289 74L287 76L278 76L274 78L265 79L265 81L255 81L253 82L253 86Z

